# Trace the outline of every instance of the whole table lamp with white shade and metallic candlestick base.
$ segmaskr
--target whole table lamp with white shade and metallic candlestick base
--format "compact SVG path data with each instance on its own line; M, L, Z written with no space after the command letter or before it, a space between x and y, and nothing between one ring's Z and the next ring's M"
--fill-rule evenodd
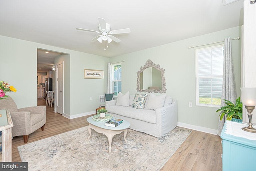
M252 127L252 111L256 106L256 88L246 88L242 87L241 89L241 101L245 105L246 110L248 111L249 123L248 127L243 127L242 130L256 133L256 129Z

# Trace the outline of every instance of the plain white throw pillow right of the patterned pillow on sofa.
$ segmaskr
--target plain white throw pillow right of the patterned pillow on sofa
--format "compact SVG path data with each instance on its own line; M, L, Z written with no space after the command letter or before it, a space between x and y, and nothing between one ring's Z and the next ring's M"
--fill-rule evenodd
M145 109L156 111L156 109L163 107L165 97L166 97L166 94L156 96L151 93L148 98L148 103L147 103L147 106L145 107Z

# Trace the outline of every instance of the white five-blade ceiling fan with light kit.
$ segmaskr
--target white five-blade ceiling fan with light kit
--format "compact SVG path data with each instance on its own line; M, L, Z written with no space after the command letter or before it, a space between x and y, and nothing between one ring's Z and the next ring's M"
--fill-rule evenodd
M130 28L124 28L124 29L120 29L120 30L110 30L110 28L111 28L110 24L106 23L106 20L104 18L98 18L98 20L100 23L98 25L99 31L88 30L88 29L84 29L84 28L76 28L76 30L83 30L83 31L95 32L95 33L100 34L92 39L92 40L94 40L97 38L97 40L100 43L102 43L102 40L108 41L108 43L110 43L110 42L112 42L112 40L114 40L114 42L118 43L121 40L116 38L115 36L113 36L113 34L123 34L123 33L131 32Z

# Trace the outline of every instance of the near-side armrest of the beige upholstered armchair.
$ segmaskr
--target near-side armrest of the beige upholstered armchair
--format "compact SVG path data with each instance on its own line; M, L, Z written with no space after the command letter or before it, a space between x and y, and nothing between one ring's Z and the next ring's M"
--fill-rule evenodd
M30 134L30 112L16 111L10 112L12 117L12 137Z

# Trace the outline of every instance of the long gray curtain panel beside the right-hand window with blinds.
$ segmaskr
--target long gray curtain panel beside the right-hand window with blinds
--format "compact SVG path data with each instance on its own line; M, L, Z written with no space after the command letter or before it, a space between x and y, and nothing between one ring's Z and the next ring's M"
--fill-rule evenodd
M234 67L231 54L231 40L230 38L225 38L224 41L224 62L223 62L223 83L222 83L222 97L221 106L225 105L223 99L236 102L236 82L234 76ZM223 117L222 121L219 118L217 134L220 136L222 128L224 126L226 117Z

